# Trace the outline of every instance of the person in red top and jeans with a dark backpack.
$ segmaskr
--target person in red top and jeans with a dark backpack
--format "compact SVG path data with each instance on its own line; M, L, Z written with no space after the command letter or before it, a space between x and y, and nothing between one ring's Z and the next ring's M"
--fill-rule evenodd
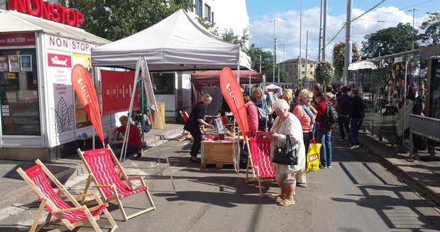
M317 141L322 144L320 151L321 168L331 168L331 128L324 124L324 115L326 114L327 105L324 103L326 96L322 91L317 91L314 95L317 101L317 123L319 123L319 130Z

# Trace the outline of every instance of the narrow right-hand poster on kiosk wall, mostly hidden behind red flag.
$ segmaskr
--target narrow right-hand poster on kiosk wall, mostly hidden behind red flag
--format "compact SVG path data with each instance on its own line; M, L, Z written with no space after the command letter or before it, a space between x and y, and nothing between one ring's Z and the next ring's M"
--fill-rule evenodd
M91 56L89 54L80 54L74 52L72 53L72 66L75 66L76 64L81 64L86 69L87 67L89 67L87 71L89 72L89 74L91 74L92 62L90 61L90 57ZM90 76L92 76L92 74ZM77 124L76 124L77 129L82 127L87 127L92 124L90 117L87 116L87 112L82 106L81 101L79 100L76 94L75 94L75 118L77 119Z

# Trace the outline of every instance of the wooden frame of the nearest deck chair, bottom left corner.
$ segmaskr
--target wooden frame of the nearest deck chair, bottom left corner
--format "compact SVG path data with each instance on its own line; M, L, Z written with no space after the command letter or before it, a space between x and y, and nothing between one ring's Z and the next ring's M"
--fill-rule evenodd
M33 223L32 223L31 228L29 229L29 231L32 231L32 232L33 231L40 231L40 229L45 226L48 226L51 224L57 224L59 222L64 224L64 226L62 226L60 228L55 228L54 230L51 230L51 231L65 231L66 229L69 229L70 231L72 231L74 228L76 228L78 226L82 226L84 223L87 223L87 222L90 222L90 224L92 224L95 231L101 231L101 228L99 228L99 226L97 224L97 220L99 220L99 215L93 216L91 212L95 211L97 209L100 209L104 205L105 205L105 207L108 207L108 204L104 204L101 201L101 199L99 199L96 192L91 193L91 194L87 194L87 195L71 195L70 192L67 192L67 190L60 183L60 181L58 181L57 178L55 178L55 176L52 173L50 173L50 170L48 170L48 168L46 168L46 166L39 159L37 159L35 161L35 163L40 165L40 167L43 170L43 172L45 173L45 175L50 180L52 180L52 182L55 185L57 185L58 191L56 192L56 194L58 196L60 196L63 193L65 195L65 197L67 197L67 199L70 200L70 203L73 204L74 207L71 207L69 209L59 209L58 207L56 207L53 202L53 199L49 199L48 196L45 195L43 193L43 191L40 190L40 188L37 185L35 185L35 182L33 182L33 180L31 180L31 178L29 178L28 174L26 174L26 172L23 169L18 168L17 169L18 174L20 174L21 177L23 178L23 180L25 180L28 183L28 185L31 186L31 188L38 195L38 198L41 199L40 207L38 207L37 214L35 215L35 218L33 219ZM98 204L95 207L88 208L86 205L79 204L76 200L76 198L92 197L92 196L95 198L95 200ZM40 217L42 216L45 207L48 207L50 209L49 214L48 214L45 222L37 228L38 221L40 220ZM73 224L70 223L70 221L68 219L66 219L65 216L62 215L62 213L66 213L69 211L79 211L79 210L83 211L84 214L87 216L87 218L83 219L82 221L77 221ZM109 214L109 211L106 208L104 208L104 210L102 212L104 212L104 214L107 216L107 219L109 220L109 222L112 226L111 231L114 231L116 228L118 228L115 221L113 220L113 218ZM55 219L53 221L50 221L52 216L56 216L59 219Z

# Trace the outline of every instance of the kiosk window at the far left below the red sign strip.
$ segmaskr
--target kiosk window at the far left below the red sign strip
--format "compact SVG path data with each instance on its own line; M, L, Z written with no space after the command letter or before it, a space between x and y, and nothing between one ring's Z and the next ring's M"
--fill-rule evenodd
M0 50L3 135L40 135L35 49Z

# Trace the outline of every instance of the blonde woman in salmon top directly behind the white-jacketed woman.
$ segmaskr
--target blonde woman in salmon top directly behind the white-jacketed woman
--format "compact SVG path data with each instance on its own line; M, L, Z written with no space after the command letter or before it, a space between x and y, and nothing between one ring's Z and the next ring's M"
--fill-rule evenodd
M293 114L297 116L299 122L301 122L302 127L302 137L304 141L304 147L306 149L306 161L307 152L309 151L310 141L313 139L313 127L315 124L315 118L317 117L317 110L313 108L310 103L313 100L313 93L307 89L303 89L298 95L298 104L293 109ZM306 167L302 168L297 172L297 186L307 187L306 181Z

